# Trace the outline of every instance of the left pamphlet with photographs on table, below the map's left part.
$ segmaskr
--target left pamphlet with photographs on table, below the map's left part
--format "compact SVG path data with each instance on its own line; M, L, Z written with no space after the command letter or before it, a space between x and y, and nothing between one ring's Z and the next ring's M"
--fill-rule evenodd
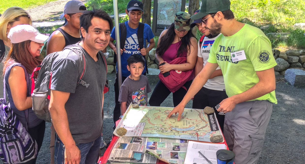
M156 157L145 153L146 137L120 137L114 145L107 163L156 163ZM134 159L115 159L115 158Z

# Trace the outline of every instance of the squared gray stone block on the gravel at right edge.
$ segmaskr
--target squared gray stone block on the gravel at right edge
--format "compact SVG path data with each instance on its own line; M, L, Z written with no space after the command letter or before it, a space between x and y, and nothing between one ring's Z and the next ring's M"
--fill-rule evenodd
M299 69L285 71L285 80L294 87L305 87L305 72Z

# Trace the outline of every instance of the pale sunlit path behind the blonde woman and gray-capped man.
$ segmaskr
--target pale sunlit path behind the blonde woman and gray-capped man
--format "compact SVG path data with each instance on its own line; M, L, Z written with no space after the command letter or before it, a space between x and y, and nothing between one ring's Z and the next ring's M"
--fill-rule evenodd
M28 9L27 12L32 17L33 22L59 20L59 16L63 13L63 8L68 1L69 0L58 0L54 2L48 2L45 5ZM87 0L80 1L83 3L87 2Z

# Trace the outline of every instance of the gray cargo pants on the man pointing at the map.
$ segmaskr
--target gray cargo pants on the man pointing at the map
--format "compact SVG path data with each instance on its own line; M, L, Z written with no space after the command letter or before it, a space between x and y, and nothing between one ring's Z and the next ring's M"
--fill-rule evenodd
M236 104L224 118L224 138L235 153L235 164L257 164L262 152L265 133L271 116L268 100Z

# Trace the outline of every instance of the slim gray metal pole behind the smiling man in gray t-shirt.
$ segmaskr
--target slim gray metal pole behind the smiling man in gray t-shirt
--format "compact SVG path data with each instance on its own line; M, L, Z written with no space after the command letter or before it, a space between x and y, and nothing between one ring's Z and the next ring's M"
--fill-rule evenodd
M113 0L113 14L115 26L115 41L117 46L117 75L119 81L119 88L122 85L122 68L121 68L121 48L120 48L120 27L119 27L119 12L117 9L117 0Z

